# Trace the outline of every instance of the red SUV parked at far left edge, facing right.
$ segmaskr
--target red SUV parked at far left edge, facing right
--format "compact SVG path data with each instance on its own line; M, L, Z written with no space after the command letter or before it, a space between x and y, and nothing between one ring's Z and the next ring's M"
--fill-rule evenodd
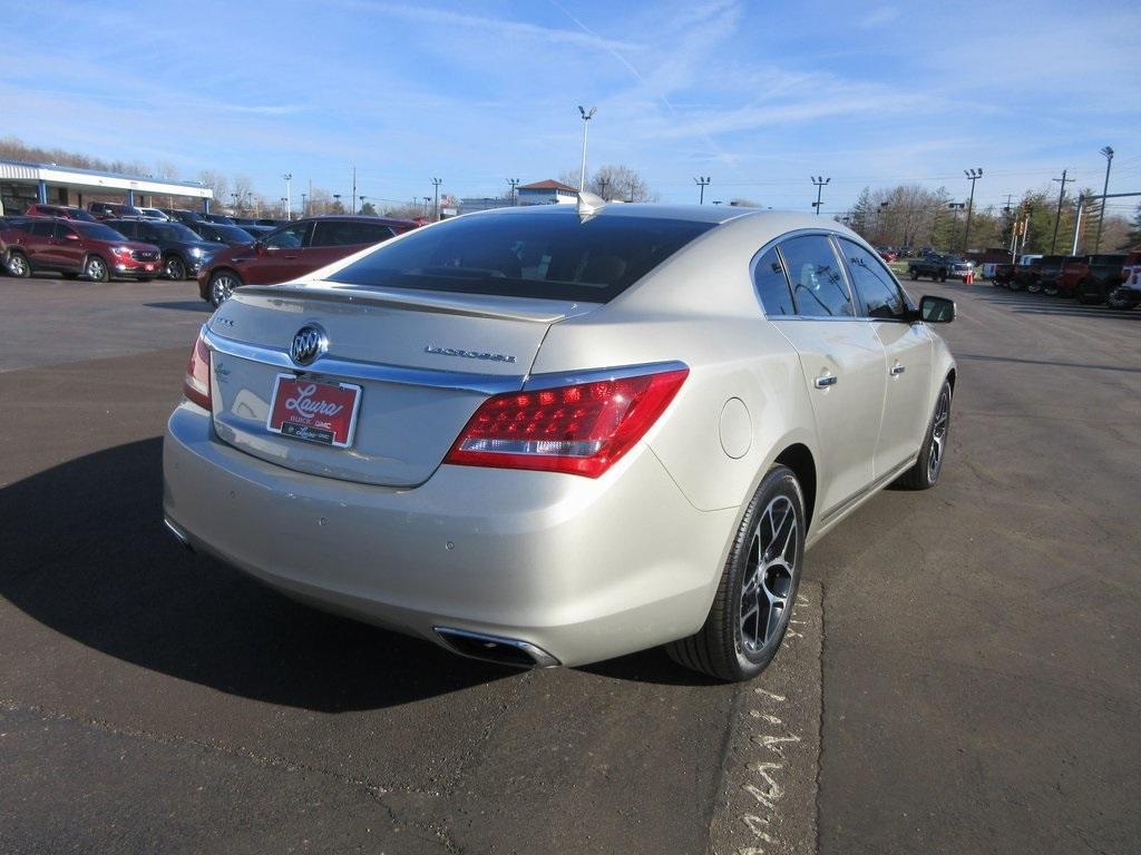
M151 279L162 271L157 246L128 241L102 222L35 218L0 234L11 276L56 270L74 279L106 282L112 276Z

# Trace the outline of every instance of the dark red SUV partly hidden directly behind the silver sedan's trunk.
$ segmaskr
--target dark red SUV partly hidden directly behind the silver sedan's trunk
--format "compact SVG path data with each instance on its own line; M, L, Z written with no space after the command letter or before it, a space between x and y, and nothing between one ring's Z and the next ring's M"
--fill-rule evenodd
M199 271L202 299L220 306L243 285L276 285L416 228L413 220L313 217L270 231L257 243L222 250Z

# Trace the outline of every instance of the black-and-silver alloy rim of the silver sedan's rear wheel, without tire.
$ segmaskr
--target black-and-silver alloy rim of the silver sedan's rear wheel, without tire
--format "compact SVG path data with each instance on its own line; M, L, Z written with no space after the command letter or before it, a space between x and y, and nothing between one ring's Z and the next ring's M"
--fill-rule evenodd
M784 632L796 553L796 511L787 496L777 496L753 530L741 586L741 642L750 653L759 653Z

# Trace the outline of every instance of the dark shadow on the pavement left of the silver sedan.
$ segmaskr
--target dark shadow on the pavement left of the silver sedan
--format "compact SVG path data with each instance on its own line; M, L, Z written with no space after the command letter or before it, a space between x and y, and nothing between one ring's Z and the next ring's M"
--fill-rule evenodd
M120 660L315 711L396 706L518 674L294 603L183 548L162 522L161 459L156 437L0 488L0 594Z

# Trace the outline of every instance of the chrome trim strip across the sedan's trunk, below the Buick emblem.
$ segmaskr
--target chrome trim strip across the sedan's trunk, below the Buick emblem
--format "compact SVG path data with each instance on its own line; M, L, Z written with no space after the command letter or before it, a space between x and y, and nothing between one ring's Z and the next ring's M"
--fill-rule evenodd
M327 374L345 380L362 380L377 383L399 383L400 385L452 389L462 392L500 394L517 392L523 388L524 375L500 376L495 374L468 374L464 372L436 370L435 368L408 368L381 363L361 363L355 359L335 359L323 356L306 366L297 365L288 351L227 339L204 328L202 337L207 347L226 356L249 359L275 368L285 368L297 374Z

